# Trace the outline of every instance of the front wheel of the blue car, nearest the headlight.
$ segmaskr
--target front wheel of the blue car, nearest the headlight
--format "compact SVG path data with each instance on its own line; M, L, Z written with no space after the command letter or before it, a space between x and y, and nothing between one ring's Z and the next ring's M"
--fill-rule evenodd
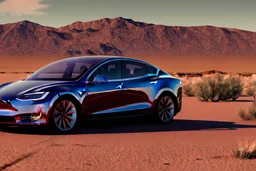
M51 125L57 131L71 131L76 126L77 119L76 105L70 100L60 100L52 108Z

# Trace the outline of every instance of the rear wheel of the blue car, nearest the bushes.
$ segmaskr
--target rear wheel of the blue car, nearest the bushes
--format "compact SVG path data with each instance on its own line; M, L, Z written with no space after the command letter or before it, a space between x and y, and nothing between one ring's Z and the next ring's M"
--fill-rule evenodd
M173 120L175 104L170 96L164 95L159 98L156 105L156 115L158 120L162 123L168 123Z

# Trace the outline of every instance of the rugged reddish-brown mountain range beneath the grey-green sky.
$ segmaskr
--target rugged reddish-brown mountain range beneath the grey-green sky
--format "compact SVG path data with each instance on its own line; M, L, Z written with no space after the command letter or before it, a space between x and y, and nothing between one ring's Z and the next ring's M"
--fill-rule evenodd
M0 25L0 55L251 56L256 32L215 26L164 26L104 18L60 28L30 21Z

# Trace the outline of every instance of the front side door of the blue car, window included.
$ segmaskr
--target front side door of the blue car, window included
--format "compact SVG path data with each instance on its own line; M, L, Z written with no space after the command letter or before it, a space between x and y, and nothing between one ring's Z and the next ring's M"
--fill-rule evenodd
M107 82L94 83L97 75L108 78ZM108 62L95 70L89 78L88 95L82 104L82 111L87 115L118 112L124 105L123 80L121 79L120 61Z

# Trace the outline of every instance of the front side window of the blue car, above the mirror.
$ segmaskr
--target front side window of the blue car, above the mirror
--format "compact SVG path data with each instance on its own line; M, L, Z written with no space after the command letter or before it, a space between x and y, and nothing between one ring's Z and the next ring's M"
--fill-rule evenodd
M121 63L120 61L108 62L101 67L99 67L90 77L90 81L97 75L105 75L108 80L118 80L121 79Z

